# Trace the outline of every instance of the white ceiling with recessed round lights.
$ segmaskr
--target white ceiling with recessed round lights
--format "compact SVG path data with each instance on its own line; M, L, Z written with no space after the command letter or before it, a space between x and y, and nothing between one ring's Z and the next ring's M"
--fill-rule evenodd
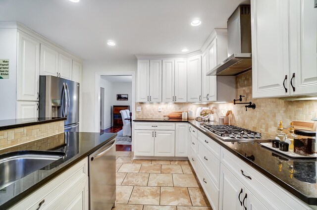
M200 50L243 1L0 0L0 21L18 21L85 60L127 59ZM202 24L191 26L194 18Z

